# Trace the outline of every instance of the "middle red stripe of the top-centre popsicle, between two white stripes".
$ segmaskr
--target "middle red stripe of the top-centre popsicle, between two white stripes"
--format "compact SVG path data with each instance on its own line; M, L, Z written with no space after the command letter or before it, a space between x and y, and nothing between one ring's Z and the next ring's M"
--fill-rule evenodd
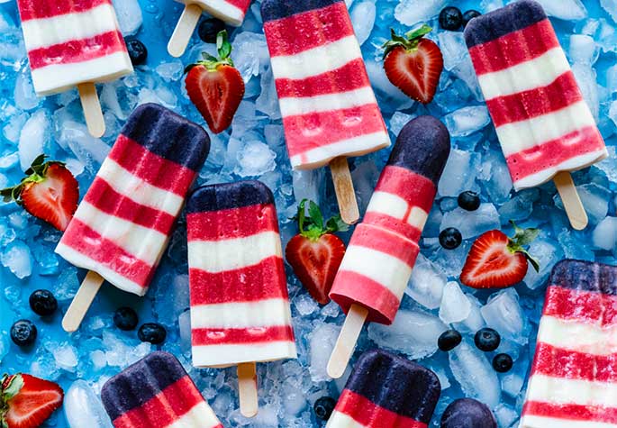
M340 68L301 79L277 78L279 98L339 94L361 87L370 87L364 60L353 59Z

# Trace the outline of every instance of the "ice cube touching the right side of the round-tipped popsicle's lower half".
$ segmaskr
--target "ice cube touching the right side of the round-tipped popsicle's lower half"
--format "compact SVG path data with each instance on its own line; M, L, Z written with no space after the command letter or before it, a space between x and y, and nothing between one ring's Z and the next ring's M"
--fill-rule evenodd
M448 278L431 260L419 254L413 266L412 278L405 288L405 294L420 305L435 309L440 306L443 288L447 281Z

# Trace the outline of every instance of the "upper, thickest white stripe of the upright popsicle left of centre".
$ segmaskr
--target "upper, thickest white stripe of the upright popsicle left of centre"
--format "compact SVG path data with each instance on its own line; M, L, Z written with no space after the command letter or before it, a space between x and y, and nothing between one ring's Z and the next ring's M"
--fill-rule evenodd
M221 241L188 241L189 266L210 273L247 268L282 255L281 239L272 231Z

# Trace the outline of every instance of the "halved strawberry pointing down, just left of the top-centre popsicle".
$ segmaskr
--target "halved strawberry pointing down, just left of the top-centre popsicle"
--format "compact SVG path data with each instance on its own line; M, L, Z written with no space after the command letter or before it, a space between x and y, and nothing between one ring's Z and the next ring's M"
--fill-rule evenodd
M231 43L227 32L219 32L216 38L219 58L202 53L204 60L186 68L186 92L205 122L214 133L225 131L231 125L240 101L244 96L244 80L240 71L233 67L230 58Z

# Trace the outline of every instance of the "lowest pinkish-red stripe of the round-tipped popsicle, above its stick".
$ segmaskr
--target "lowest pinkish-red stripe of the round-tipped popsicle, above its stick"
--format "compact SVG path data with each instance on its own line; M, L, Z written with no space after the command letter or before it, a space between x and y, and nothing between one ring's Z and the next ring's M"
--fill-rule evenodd
M339 270L330 297L347 314L349 307L359 303L369 308L367 321L391 324L401 301L382 284L351 270ZM353 299L349 296L353 296Z

